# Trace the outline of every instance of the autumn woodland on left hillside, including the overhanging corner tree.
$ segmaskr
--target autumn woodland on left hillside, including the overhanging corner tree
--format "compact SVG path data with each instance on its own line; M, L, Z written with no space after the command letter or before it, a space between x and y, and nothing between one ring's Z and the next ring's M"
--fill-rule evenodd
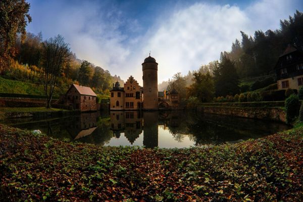
M47 71L51 71L49 66L52 64L54 67L58 64L54 81L55 86L62 89L61 92L66 91L74 83L91 87L101 98L107 98L113 82L117 80L123 82L120 76L112 76L108 70L89 61L78 59L60 34L44 39L41 32L38 34L26 32L25 27L31 22L31 16L28 13L30 5L25 1L2 1L0 7L0 24L2 25L0 26L0 75L2 78L41 85L44 81L43 76L48 73ZM66 45L64 47L66 54L64 57L59 57L59 54L55 57L56 53L60 53L63 48L59 47L62 49L58 49L60 50L58 52L54 49L53 61L51 61L48 57L47 45L52 45L52 48L58 46L54 43L57 39L62 40L61 44ZM49 44L49 42L52 43Z

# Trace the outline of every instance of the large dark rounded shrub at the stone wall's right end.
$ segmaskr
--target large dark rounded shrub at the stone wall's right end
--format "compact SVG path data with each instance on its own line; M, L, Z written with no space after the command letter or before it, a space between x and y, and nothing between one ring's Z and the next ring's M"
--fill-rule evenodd
M291 94L285 100L286 122L290 123L298 115L299 98L297 95Z

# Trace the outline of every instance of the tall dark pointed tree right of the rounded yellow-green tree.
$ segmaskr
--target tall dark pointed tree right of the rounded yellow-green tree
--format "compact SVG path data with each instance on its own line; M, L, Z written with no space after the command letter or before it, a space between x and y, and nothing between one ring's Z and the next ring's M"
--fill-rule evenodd
M239 77L234 63L221 53L220 63L214 69L216 96L239 93Z

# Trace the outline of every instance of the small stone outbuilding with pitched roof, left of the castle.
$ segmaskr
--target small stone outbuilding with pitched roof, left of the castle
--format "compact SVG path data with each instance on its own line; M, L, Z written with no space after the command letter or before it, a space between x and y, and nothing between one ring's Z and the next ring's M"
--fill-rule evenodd
M72 106L80 111L96 111L97 110L97 95L89 87L71 85L63 100L65 105Z

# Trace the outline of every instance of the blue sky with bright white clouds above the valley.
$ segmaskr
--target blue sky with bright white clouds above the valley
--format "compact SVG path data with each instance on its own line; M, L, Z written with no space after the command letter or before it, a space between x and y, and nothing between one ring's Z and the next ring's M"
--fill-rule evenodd
M63 35L81 60L142 86L142 63L149 53L159 63L158 83L197 70L230 51L240 31L279 29L280 19L301 0L28 0L32 22L27 31L43 39Z

